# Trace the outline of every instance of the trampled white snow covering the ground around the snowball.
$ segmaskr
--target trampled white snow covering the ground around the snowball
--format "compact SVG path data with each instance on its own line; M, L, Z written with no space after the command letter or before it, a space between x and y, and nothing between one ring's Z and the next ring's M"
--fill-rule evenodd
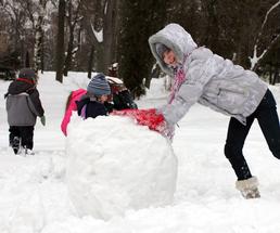
M60 131L68 92L86 87L86 74L71 73L63 85L44 73L38 89L47 126L38 121L35 156L15 156L8 147L5 102L0 99L0 233L276 233L280 231L280 161L269 152L255 122L244 154L259 179L262 198L243 199L224 156L228 117L194 105L180 121L174 139L178 157L173 205L128 210L109 221L79 218L65 181L65 138ZM165 103L163 80L153 80L140 108ZM0 92L9 82L0 81ZM270 87L280 103L280 87ZM133 139L131 139L133 140ZM161 145L154 145L160 147ZM124 197L125 198L125 197Z

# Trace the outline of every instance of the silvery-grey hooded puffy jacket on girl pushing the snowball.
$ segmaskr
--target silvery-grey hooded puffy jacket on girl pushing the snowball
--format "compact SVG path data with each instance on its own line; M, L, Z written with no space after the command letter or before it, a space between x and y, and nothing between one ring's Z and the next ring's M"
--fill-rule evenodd
M174 101L158 109L168 124L178 122L195 102L246 124L246 117L267 91L266 83L255 73L233 65L206 48L198 48L180 25L169 24L150 37L149 43L161 68L171 77L173 69L156 53L158 42L175 52L186 75Z

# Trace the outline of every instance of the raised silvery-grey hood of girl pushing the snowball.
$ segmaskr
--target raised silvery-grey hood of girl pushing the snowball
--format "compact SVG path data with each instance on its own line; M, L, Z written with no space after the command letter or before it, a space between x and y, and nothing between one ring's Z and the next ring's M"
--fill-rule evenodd
M173 69L168 67L162 57L158 56L155 44L163 43L171 49L179 63L183 62L183 57L198 48L190 34L188 34L179 24L168 24L162 30L157 31L149 38L151 51L158 62L161 68L168 75L173 75Z

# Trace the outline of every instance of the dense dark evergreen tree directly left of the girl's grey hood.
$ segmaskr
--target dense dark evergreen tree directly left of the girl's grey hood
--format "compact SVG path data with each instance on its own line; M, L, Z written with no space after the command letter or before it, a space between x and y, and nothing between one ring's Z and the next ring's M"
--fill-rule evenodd
M133 96L144 94L144 85L150 86L154 59L148 38L166 23L166 7L167 1L122 1L119 76Z

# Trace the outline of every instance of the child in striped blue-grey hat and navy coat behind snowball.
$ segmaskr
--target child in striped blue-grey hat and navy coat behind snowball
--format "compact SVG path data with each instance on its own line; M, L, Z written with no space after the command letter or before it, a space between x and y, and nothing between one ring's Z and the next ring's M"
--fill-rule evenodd
M76 102L78 115L84 119L88 117L106 116L109 114L104 103L111 94L111 89L105 76L100 73L89 82L87 93Z

